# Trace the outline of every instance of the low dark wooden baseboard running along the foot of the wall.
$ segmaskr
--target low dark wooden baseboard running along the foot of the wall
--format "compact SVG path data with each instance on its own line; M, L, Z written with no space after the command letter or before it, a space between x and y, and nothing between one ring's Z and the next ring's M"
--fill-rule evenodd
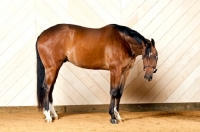
M57 113L99 113L108 112L109 105L62 105L55 106ZM200 110L199 103L156 103L156 104L121 104L120 111L181 111ZM0 107L0 113L37 113L36 106Z

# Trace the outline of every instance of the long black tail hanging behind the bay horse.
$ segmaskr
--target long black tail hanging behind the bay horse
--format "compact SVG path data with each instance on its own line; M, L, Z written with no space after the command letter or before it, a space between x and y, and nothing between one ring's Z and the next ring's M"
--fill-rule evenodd
M38 37L39 39L39 37ZM40 55L38 53L38 39L36 42L36 56L37 56L37 102L38 102L38 109L42 110L44 105L44 93L45 89L43 88L43 82L45 77L45 69L44 65L41 61Z

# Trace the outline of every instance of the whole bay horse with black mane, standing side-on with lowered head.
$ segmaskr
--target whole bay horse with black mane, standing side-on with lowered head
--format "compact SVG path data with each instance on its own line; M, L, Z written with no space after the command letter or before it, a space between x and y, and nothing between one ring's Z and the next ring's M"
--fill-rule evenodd
M126 26L110 24L98 29L58 24L43 31L36 42L37 100L46 122L58 118L52 92L64 62L87 69L110 71L110 122L120 122L119 103L125 81L134 61L142 55L145 75L151 81L156 72L158 53L148 40Z

